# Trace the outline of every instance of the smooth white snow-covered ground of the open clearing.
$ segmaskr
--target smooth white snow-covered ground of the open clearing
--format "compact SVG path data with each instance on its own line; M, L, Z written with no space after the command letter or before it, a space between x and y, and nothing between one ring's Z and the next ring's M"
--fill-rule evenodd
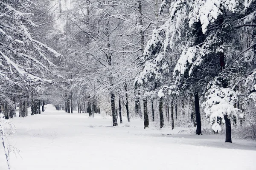
M17 132L9 143L20 150L11 153L12 170L256 170L256 142L225 143L223 135L144 130L141 119L128 124L125 117L112 127L111 117L68 114L52 105L11 121ZM7 169L1 145L0 170Z

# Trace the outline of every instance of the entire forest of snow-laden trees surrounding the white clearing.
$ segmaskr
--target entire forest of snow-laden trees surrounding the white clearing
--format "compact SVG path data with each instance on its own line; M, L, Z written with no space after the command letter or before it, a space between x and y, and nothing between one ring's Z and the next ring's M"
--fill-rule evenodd
M201 134L208 121L231 142L231 126L255 116L254 1L0 2L6 118L49 101L113 126L127 115Z

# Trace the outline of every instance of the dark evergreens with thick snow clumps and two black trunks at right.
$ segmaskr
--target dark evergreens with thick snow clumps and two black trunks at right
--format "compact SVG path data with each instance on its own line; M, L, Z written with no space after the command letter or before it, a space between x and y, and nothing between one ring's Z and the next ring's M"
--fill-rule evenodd
M247 0L172 2L169 19L153 31L145 47L137 85L167 85L160 89L160 99L194 95L198 125L203 94L212 129L220 132L225 123L226 142L231 142L231 121L236 125L244 115L255 116L254 111L245 114L255 109L248 99L254 96L256 78L254 6Z

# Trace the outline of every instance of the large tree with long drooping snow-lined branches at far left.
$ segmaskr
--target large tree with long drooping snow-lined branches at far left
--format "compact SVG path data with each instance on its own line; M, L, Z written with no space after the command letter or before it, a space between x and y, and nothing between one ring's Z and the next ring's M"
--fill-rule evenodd
M34 7L31 1L21 0L13 4L1 0L0 7L4 14L0 18L1 93L9 99L20 98L20 116L23 117L27 115L29 91L37 91L39 85L51 82L50 77L62 78L54 73L57 66L50 61L61 54L30 34L28 28L36 26L30 17ZM12 103L7 105L10 107ZM8 111L13 114L14 110Z

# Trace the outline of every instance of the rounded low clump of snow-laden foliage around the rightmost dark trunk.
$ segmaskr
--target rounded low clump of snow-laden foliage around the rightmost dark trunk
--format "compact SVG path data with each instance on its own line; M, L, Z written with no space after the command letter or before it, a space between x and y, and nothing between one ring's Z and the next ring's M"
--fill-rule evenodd
M243 117L241 110L234 107L238 97L232 89L213 86L207 92L206 98L202 107L215 132L221 131L220 125L225 123L224 115L227 115L229 119L235 116L237 120L239 117Z

